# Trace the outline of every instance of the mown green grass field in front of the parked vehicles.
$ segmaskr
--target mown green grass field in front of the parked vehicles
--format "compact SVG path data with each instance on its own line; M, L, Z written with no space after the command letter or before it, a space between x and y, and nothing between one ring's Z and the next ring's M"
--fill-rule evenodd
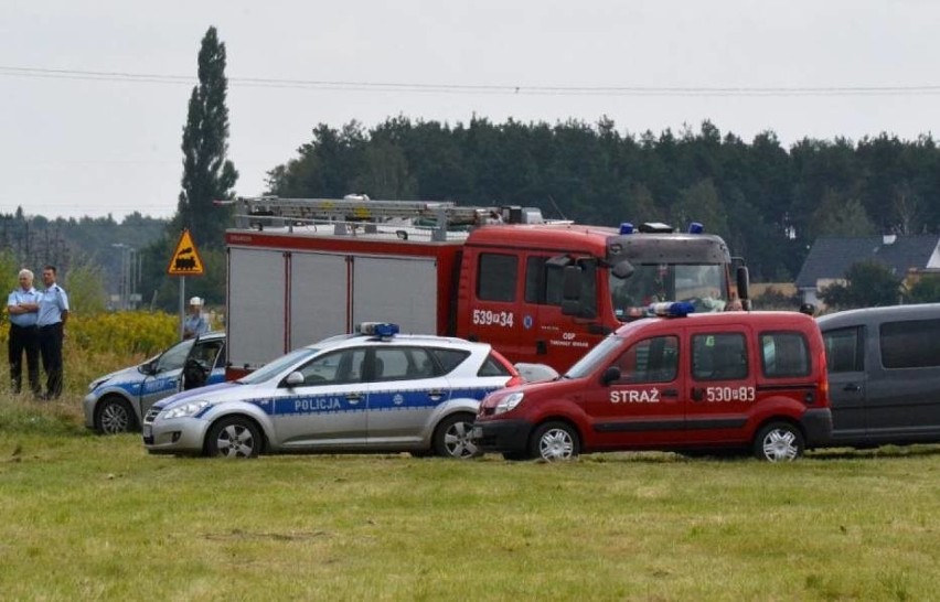
M149 456L0 396L3 600L937 600L940 447Z

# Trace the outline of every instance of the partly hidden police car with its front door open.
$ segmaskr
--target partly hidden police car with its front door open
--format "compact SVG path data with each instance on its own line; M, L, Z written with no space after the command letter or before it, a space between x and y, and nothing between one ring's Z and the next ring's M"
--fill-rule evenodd
M98 377L83 404L85 426L102 434L140 430L150 406L175 393L225 380L225 333L177 343L147 362Z

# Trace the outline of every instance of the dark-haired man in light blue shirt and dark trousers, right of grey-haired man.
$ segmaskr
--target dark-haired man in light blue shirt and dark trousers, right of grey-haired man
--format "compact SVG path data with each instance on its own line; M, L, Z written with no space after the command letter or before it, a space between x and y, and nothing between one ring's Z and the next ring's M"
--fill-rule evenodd
M46 378L43 399L57 399L62 395L62 341L68 320L68 295L55 283L55 266L42 269L42 281L45 290L40 294L36 325Z

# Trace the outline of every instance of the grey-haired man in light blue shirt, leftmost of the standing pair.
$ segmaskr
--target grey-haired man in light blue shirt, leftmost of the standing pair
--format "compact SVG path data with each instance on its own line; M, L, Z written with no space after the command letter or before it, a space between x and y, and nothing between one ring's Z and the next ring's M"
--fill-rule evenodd
M20 393L23 386L23 352L26 353L26 373L30 390L33 395L42 393L39 384L39 332L36 312L39 292L33 288L33 272L20 270L20 286L7 298L7 313L10 314L10 384L13 393Z

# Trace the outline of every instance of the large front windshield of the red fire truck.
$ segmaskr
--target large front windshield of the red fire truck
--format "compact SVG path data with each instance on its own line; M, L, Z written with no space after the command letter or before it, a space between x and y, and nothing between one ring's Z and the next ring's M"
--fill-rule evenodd
M612 272L608 278L613 312L622 322L645 315L658 301L688 301L699 313L722 311L728 301L723 265L634 264L629 278Z

